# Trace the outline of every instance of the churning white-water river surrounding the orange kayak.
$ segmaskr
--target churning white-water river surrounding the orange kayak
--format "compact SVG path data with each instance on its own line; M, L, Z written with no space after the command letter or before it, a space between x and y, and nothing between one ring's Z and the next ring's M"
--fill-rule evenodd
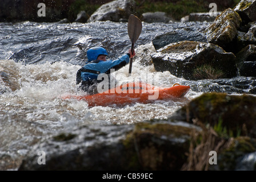
M81 94L75 84L86 51L103 46L107 59L115 59L131 47L127 23L0 23L0 170L17 170L34 144L63 130L86 125L122 125L166 119L204 92L246 93L255 87L250 77L188 81L170 72L155 72L151 40L166 32L185 28L200 31L209 23L144 23L135 43L132 75L129 65L115 72L116 81L141 80L161 87L190 85L184 98L132 104L88 107L86 101L62 100L65 94ZM181 35L182 36L182 35ZM240 85L239 83L243 83Z

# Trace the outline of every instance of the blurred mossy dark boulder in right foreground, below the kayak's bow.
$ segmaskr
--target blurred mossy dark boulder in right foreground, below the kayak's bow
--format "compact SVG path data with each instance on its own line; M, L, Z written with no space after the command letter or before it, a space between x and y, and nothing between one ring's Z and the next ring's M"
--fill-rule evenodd
M172 120L193 123L195 119L212 127L221 126L226 137L256 137L256 97L243 94L230 96L226 93L205 93L183 106Z

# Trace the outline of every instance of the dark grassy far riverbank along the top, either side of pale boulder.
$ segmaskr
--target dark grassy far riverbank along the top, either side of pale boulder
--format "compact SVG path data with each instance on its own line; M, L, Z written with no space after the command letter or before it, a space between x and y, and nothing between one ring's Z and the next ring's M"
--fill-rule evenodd
M110 1L90 1L90 0L2 0L0 13L0 22L21 22L25 20L33 22L57 22L62 19L67 19L69 22L74 22L77 15L81 11L85 11L90 17L100 6ZM162 11L171 16L175 20L180 20L183 16L190 13L209 12L210 3L217 5L217 11L223 11L229 7L233 8L239 0L219 1L219 0L145 0L135 1L136 7L134 14L141 16L143 13ZM45 16L38 16L38 11L42 6L39 3L45 4ZM40 12L39 12L40 13Z

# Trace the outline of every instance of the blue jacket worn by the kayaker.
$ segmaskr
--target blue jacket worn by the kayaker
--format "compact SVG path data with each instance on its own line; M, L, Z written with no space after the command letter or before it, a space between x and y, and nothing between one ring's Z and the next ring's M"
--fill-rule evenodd
M77 72L77 84L82 81L82 84L88 86L93 85L93 81L97 80L100 73L110 73L110 69L118 69L124 67L130 61L130 55L127 53L116 60L94 60L84 65Z

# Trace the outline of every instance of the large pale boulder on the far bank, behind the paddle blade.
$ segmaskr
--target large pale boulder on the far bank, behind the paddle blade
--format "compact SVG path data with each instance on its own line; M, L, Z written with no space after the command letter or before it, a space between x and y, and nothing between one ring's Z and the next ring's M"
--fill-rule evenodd
M99 7L87 20L87 22L106 21L119 22L120 19L128 19L134 13L134 0L116 0Z

